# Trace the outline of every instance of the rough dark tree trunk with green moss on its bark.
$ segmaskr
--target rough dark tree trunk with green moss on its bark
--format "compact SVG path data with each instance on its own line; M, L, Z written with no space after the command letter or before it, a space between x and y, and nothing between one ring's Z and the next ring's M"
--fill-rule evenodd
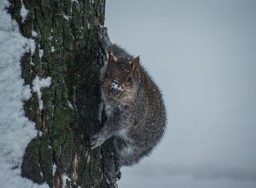
M50 87L24 103L37 136L23 157L22 176L50 187L116 187L110 143L89 149L89 136L103 125L99 111L99 69L105 54L97 41L97 22L104 24L105 0L11 0L9 12L20 32L34 39L34 54L21 60L22 77L51 77ZM20 16L22 4L29 11ZM97 21L98 20L98 21ZM37 33L35 34L34 31Z

